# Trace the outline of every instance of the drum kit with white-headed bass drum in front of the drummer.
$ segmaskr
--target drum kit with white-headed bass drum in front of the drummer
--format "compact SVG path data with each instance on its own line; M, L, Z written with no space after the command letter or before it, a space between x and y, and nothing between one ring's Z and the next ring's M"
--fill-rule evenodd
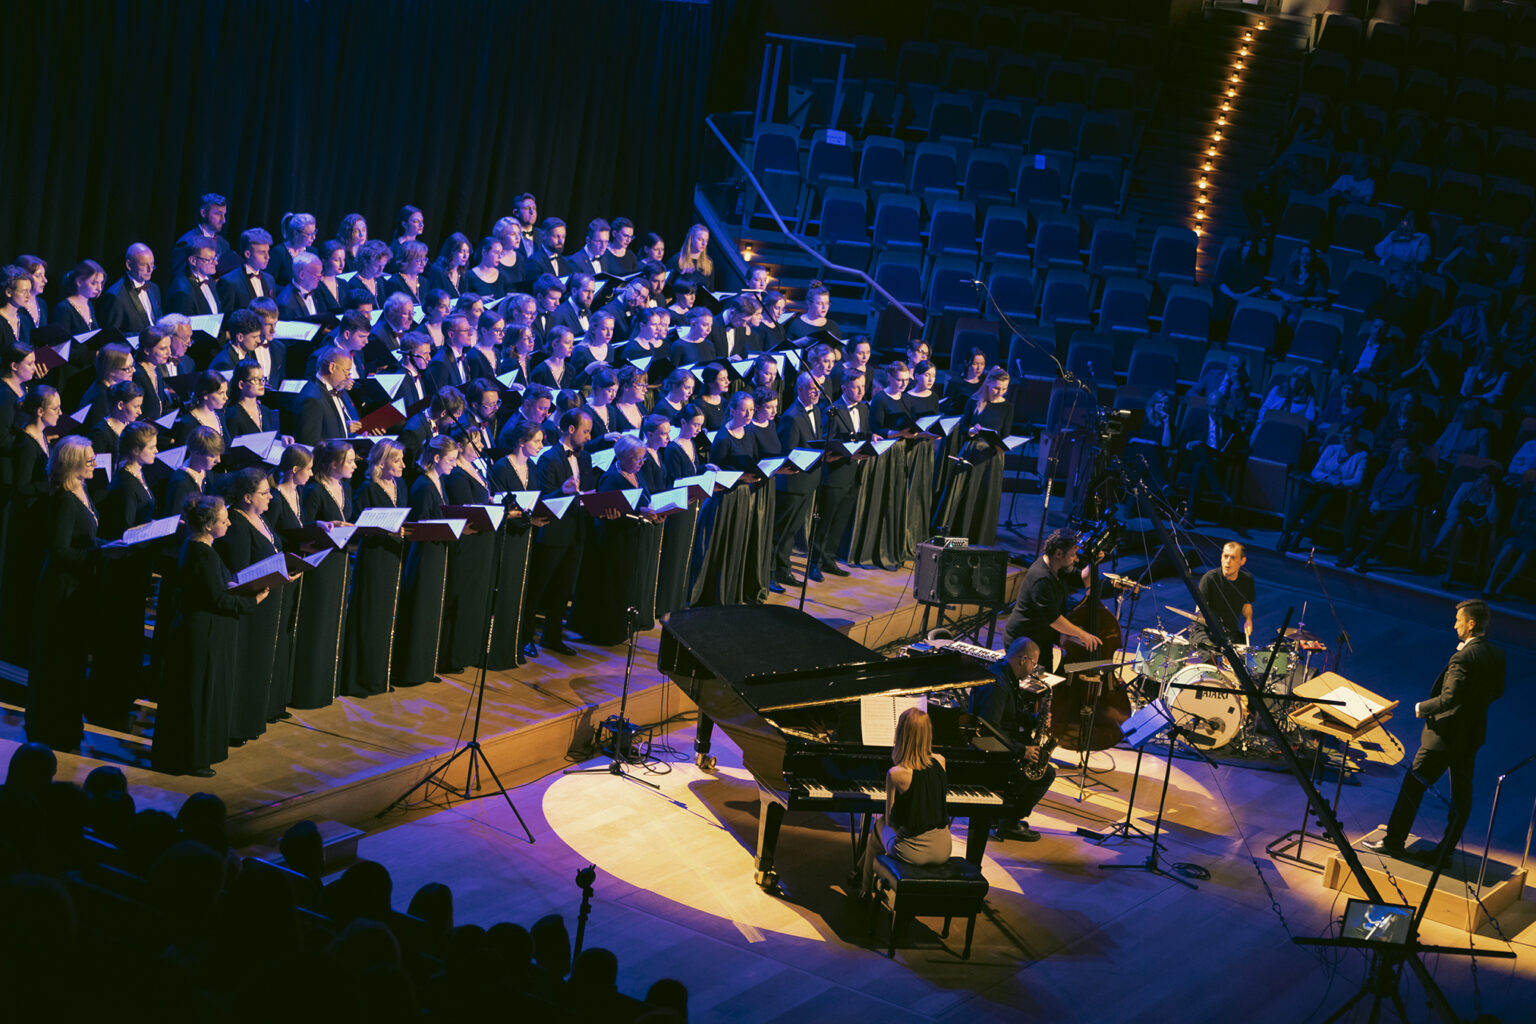
M1169 611L1190 623L1198 616L1172 605ZM1233 645L1243 659L1249 679L1272 700L1270 708L1287 732L1299 728L1289 718L1289 697L1295 688L1315 676L1312 656L1326 652L1327 645L1306 629L1287 629L1269 646ZM1215 751L1232 748L1249 755L1275 754L1273 742L1260 729L1260 717L1249 708L1236 674L1226 657L1190 636L1189 626L1178 633L1161 628L1141 629L1137 680L1129 686L1132 702L1146 705L1161 697L1174 715L1174 723L1186 731L1197 746Z

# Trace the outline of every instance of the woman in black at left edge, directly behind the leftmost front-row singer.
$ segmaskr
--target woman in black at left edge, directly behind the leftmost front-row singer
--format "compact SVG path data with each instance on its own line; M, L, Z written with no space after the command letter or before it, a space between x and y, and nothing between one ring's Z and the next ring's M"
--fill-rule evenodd
M58 427L63 404L58 391L32 384L22 398L20 430L11 439L11 525L6 537L5 586L0 588L0 656L12 665L32 657L32 596L43 570L37 543L45 524L41 500L48 496L48 436Z

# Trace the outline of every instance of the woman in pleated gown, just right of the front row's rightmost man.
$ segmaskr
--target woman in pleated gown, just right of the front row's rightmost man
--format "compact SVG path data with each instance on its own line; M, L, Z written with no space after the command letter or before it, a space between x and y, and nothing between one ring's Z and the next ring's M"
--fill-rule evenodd
M880 570L895 570L915 554L908 545L906 496L908 484L917 462L928 468L923 487L932 481L932 448L911 439L917 433L917 421L903 401L912 372L895 359L885 365L879 376L885 387L869 402L869 428L880 438L906 438L897 441L885 454L865 464L865 481L860 485L860 500L848 539L848 560L854 565L872 565ZM922 457L914 461L912 453ZM928 520L923 520L928 530Z

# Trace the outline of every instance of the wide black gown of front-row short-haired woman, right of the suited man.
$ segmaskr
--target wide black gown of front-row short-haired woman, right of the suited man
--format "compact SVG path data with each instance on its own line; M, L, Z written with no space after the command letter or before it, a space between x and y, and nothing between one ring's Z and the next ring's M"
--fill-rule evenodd
M639 479L639 477L636 477ZM598 481L599 491L634 490L617 462ZM650 502L644 481L641 505ZM621 516L593 519L591 537L582 551L571 628L587 643L614 646L630 639L627 625L644 633L656 625L656 570L660 562L662 527ZM634 609L633 616L628 609Z

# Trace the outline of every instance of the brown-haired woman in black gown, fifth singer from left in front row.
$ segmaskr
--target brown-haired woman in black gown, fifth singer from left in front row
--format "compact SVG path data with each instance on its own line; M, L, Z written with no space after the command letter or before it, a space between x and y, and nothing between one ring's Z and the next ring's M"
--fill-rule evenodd
M352 520L349 481L356 468L358 456L346 441L323 441L315 445L315 474L300 496L300 514L306 527L329 530ZM346 614L347 553L343 548L332 551L304 574L290 708L324 708L336 699Z

